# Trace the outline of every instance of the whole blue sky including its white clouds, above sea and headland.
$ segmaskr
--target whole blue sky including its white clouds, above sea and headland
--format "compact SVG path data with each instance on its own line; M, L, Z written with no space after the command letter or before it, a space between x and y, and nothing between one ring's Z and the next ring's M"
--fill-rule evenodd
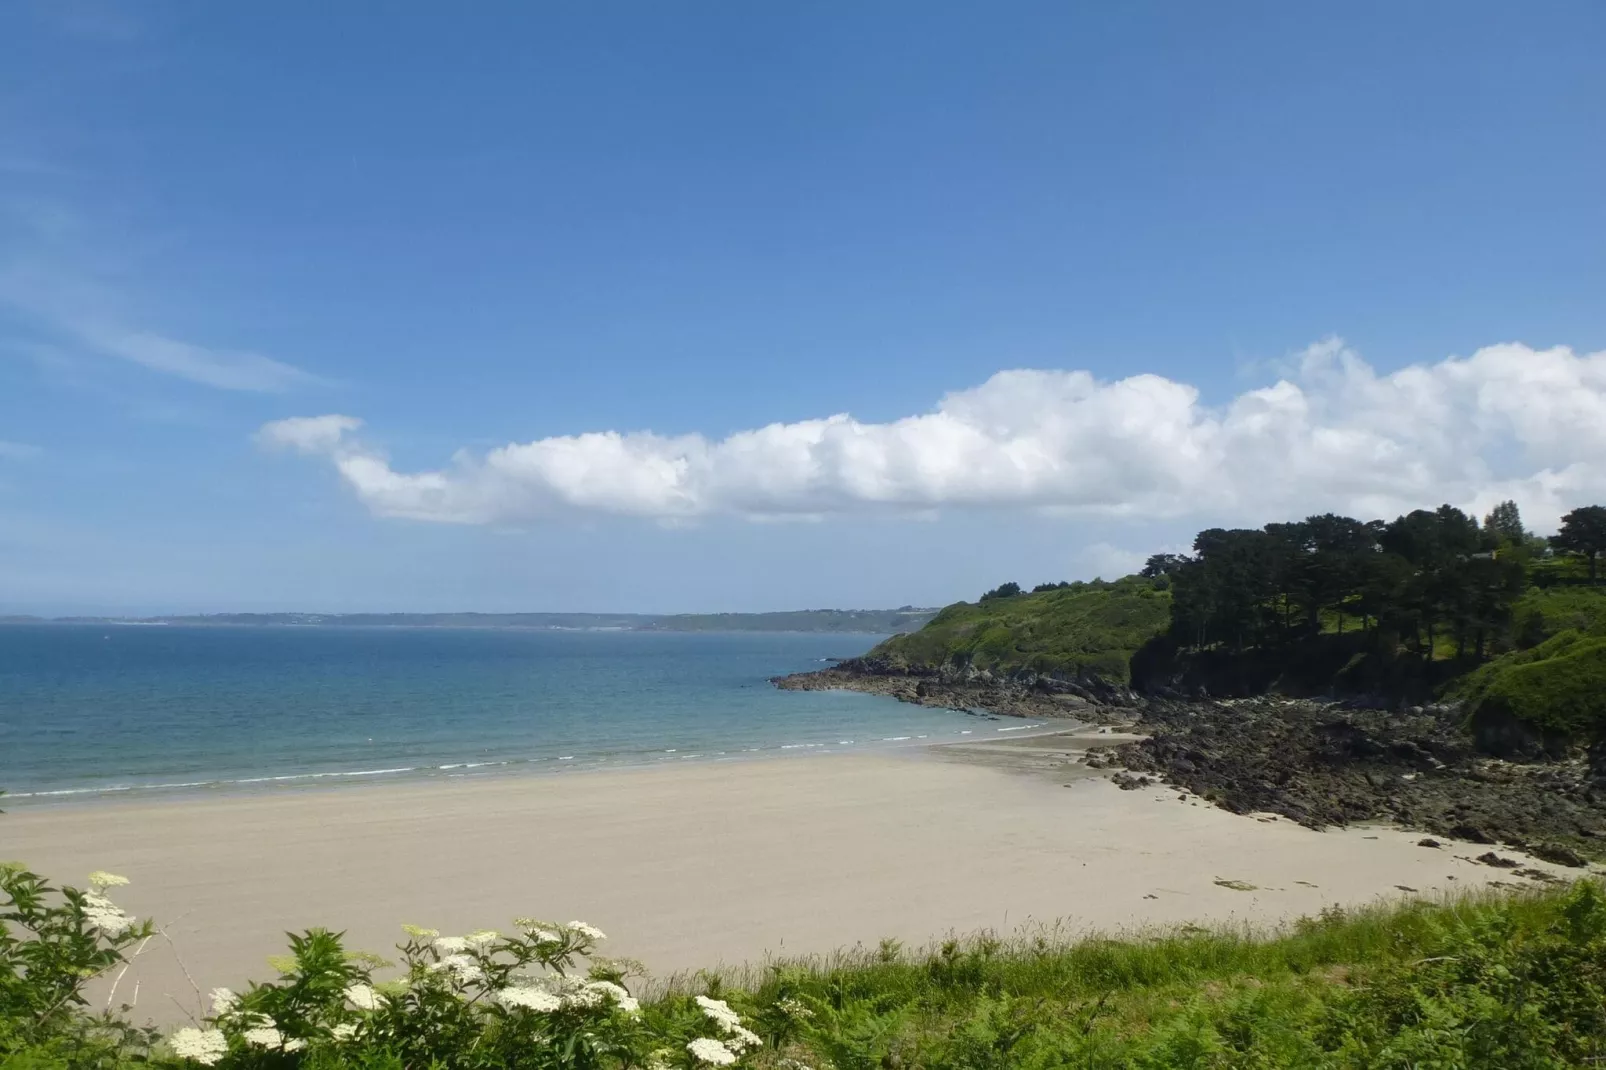
M0 8L0 612L940 604L1606 500L1600 3L377 11Z

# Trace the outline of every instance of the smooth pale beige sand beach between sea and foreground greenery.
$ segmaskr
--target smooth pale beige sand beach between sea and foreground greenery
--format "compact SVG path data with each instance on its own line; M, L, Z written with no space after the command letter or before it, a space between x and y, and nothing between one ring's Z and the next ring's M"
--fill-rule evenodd
M202 990L239 986L271 975L265 958L286 930L320 924L387 951L403 922L464 932L524 914L581 919L612 937L612 954L662 975L883 937L1269 924L1404 888L1521 882L1469 861L1487 847L1312 832L1171 789L997 768L993 752L24 810L0 818L0 858L61 880L92 869L133 880L119 903L156 917L172 943L154 941L119 994L138 982L138 1014L159 1022L196 1007L180 959Z

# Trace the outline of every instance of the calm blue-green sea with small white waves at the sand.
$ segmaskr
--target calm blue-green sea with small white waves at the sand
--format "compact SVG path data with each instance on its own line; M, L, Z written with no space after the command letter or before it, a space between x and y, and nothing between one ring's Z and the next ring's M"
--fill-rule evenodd
M0 625L8 805L569 771L993 734L768 678L875 636Z

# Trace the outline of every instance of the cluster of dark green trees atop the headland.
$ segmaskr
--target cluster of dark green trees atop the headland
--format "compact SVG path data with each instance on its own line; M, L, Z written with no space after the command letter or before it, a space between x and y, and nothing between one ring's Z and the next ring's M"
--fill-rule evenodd
M1539 562L1587 562L1600 582L1606 506L1563 517L1545 540L1522 527L1516 503L1479 524L1453 506L1391 522L1322 514L1262 529L1208 529L1192 554L1155 554L1143 575L1171 586L1172 636L1190 647L1274 647L1346 628L1384 633L1434 657L1484 657L1511 641L1513 606Z

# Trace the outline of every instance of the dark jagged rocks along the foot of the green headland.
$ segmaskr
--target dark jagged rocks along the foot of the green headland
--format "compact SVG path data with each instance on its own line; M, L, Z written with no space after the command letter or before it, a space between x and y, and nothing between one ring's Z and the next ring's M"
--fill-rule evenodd
M1606 856L1601 770L1580 753L1532 762L1479 753L1453 705L1187 700L1140 696L1097 678L954 667L911 672L867 659L774 683L1010 717L1126 723L1145 737L1094 749L1087 765L1108 768L1123 787L1161 781L1235 813L1277 813L1310 827L1396 821L1474 843L1506 843L1567 866Z

